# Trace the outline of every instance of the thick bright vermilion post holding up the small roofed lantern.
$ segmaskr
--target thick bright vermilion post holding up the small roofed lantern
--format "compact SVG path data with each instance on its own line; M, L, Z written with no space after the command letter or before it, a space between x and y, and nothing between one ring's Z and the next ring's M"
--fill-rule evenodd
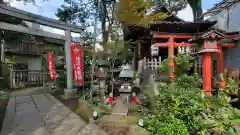
M212 58L211 53L203 54L203 90L208 96L211 96L212 91Z

